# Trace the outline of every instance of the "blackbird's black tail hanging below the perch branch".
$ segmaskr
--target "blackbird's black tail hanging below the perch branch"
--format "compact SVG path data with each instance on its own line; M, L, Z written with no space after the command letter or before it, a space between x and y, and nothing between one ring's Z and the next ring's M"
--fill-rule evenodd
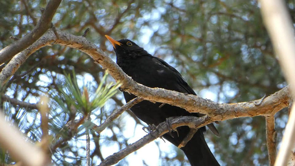
M198 130L194 137L181 148L192 166L217 166L219 163L210 151L203 132Z

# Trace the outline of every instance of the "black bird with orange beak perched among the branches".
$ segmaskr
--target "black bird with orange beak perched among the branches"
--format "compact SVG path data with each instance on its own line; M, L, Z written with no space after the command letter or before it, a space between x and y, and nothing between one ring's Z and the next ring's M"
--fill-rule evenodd
M117 55L117 64L137 83L141 83L142 85L151 88L165 88L181 93L196 95L194 90L186 83L180 73L178 73L175 68L168 65L164 60L150 55L142 47L139 47L130 40L123 39L117 41L110 36L105 36L114 46ZM127 92L123 93L126 102L136 97ZM152 103L150 101L137 103L131 108L131 111L139 119L149 125L158 125L168 117L203 116L203 114L199 113L189 113L180 107L171 106L169 104L162 105L162 103ZM219 133L213 124L207 126L215 135L219 136ZM175 146L178 146L189 133L189 130L189 127L181 126L177 128L178 133L167 133L163 135L163 137ZM203 135L205 130L205 127L199 129L186 146L181 148L189 159L190 164L193 166L219 165L205 141Z

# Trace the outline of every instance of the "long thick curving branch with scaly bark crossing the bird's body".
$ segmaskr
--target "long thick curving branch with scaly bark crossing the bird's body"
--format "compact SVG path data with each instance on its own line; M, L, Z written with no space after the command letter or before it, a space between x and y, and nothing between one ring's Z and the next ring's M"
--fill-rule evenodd
M189 112L207 114L214 121L223 121L246 116L253 117L269 115L289 106L291 97L289 95L288 87L264 98L261 103L260 100L258 100L260 104L256 104L257 101L230 104L216 103L195 95L186 95L163 88L149 88L133 81L131 77L126 75L122 69L106 55L106 53L86 40L86 38L75 36L67 32L61 32L59 30L57 30L57 33L59 34L58 39L56 39L53 31L49 30L33 45L19 54L25 54L28 56L41 47L50 45L53 42L76 48L91 56L95 62L102 65L103 68L108 69L109 74L112 75L116 81L119 80L120 83L122 83L121 88L124 89L124 91L140 96L145 100L168 103L184 108ZM19 65L21 64L18 64L18 66ZM9 64L7 64L1 71L0 81L7 80L16 71L15 68L8 69L8 67Z

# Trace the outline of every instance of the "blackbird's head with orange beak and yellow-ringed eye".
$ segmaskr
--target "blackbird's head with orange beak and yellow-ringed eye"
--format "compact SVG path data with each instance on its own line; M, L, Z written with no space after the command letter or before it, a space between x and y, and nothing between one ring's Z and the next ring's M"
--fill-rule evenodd
M135 42L128 39L114 40L112 37L105 35L105 37L112 43L117 55L117 60L136 58L143 55L150 55L142 47L139 47Z

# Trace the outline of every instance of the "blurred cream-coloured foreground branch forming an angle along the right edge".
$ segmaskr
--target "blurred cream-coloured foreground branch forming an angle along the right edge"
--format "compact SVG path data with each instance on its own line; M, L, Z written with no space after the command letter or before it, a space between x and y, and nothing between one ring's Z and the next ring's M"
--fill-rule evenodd
M279 63L290 84L291 94L295 98L295 39L294 26L286 4L281 0L260 0L263 21L270 34ZM276 158L276 166L285 166L290 156L291 147L295 144L295 107L291 109L282 144Z

